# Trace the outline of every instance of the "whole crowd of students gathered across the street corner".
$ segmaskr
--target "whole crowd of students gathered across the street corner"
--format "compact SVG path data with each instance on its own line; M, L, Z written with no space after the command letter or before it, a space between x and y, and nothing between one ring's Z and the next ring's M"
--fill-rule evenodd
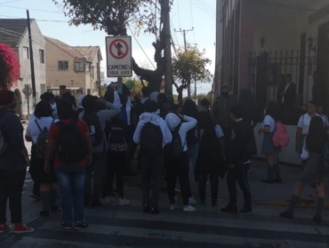
M168 207L174 210L175 189L180 183L182 210L194 212L197 201L191 193L192 181L197 182L199 203L205 205L205 191L210 182L212 205L217 206L219 178L228 183L229 204L222 212L251 213L252 192L248 182L250 159L257 153L254 137L256 118L253 97L244 90L237 99L229 85L221 87L221 97L213 104L202 100L196 105L188 99L184 105L174 105L164 94L142 89L143 97L123 85L112 83L104 97L69 93L56 99L44 93L31 116L25 139L32 143L31 159L25 148L23 128L15 115L16 99L12 91L0 91L0 233L11 230L6 224L6 203L12 216L15 233L31 232L21 220L21 191L26 168L34 181L32 197L41 198L41 216L48 217L62 209L64 229L84 229L84 206L98 207L104 201L129 205L124 198L124 173L131 171L134 153L138 152L141 169L142 210L160 213L159 192L166 182ZM279 106L269 102L259 133L263 135L262 154L268 161L266 183L282 182L277 154L284 145L275 145L278 132ZM321 221L325 203L326 174L322 173L322 153L328 136L325 118L317 117L317 106L309 103L309 111L301 116L297 129L296 150L305 169L293 190L289 209L282 217L293 219L301 189L307 182L320 178L317 184L317 213ZM321 126L321 125L322 126ZM321 126L321 127L320 127ZM281 137L282 138L282 137ZM137 149L139 148L139 149ZM193 179L189 176L192 171ZM227 175L226 175L227 174ZM237 209L237 184L245 204ZM59 192L58 192L59 190Z

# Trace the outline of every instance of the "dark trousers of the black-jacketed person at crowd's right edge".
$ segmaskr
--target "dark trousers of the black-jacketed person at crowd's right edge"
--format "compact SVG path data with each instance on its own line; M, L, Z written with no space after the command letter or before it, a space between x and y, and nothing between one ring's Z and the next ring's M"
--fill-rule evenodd
M229 187L229 204L237 205L237 184L240 186L245 198L245 207L252 207L252 192L248 181L248 164L229 168L227 177Z

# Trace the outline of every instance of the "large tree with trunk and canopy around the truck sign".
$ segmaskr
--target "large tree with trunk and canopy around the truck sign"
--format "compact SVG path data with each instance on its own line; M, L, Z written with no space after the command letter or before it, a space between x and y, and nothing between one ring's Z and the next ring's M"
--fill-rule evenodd
M137 65L132 58L132 69L140 76L140 80L148 81L148 86L159 90L165 72L165 58L162 51L165 47L164 0L52 0L55 4L62 2L65 15L70 18L69 24L79 26L91 24L94 29L105 30L108 35L127 35L126 27L134 23L136 27L144 27L145 31L158 35L155 43L156 70L147 70ZM161 19L156 26L156 11L160 3ZM154 12L152 12L154 10ZM146 27L145 27L146 26Z

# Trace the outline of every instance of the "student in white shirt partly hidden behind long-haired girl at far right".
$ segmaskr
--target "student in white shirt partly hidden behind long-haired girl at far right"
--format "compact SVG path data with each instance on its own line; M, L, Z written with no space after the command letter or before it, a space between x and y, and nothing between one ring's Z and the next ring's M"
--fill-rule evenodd
M296 130L296 147L295 150L301 154L302 146L305 137L309 134L309 124L313 117L321 116L317 113L317 104L310 101L308 104L308 112L301 115L300 120L298 120L297 130ZM305 160L302 161L302 166L305 166Z

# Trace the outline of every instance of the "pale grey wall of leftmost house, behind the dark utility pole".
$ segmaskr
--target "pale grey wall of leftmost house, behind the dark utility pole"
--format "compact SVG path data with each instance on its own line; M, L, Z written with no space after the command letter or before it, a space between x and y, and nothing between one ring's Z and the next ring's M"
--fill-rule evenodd
M28 30L28 29L27 29ZM39 27L35 20L31 20L31 33L32 33L32 40L33 40L33 57L34 57L34 66L35 66L35 77L36 77L36 102L38 102L40 95L44 93L42 91L42 84L45 84L45 64L40 63L39 57L39 50L44 50L44 36L41 34ZM30 67L30 58L24 59L23 57L23 47L29 48L28 43L28 31L25 35L22 36L19 47L14 48L16 50L16 54L19 56L20 61L20 80L16 87L12 88L12 91L15 89L20 90L21 99L21 108L24 117L28 115L28 99L25 95L21 92L24 89L25 85L30 85L32 88L32 80L31 80L31 67ZM30 112L33 111L33 100L32 96L29 97L29 105L30 105Z

